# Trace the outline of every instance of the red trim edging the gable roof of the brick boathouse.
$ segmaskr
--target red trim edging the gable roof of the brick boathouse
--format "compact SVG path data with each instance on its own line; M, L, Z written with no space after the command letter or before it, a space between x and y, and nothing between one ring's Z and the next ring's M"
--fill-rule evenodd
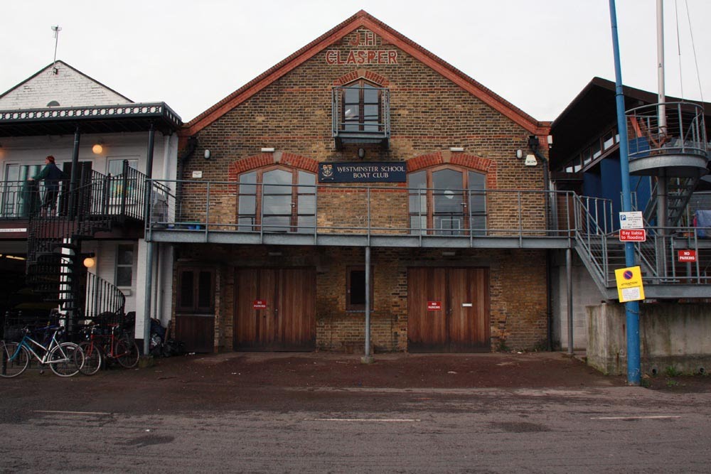
M374 16L371 16L366 11L360 10L357 14L351 16L351 18L348 18L335 28L319 36L319 38L316 38L316 40L304 46L304 48L296 51L296 53L282 60L277 65L274 65L274 67L263 72L250 82L247 82L247 84L240 87L240 89L232 92L232 94L228 95L228 97L220 100L220 102L213 105L213 107L210 107L202 114L199 114L191 120L191 122L186 124L183 131L181 131L181 135L191 136L196 134L198 131L201 131L206 126L215 122L215 120L237 107L237 105L245 102L245 100L257 94L257 92L260 92L260 90L264 89L264 87L267 87L272 84L272 82L278 80L280 77L283 77L287 74L287 72L294 70L294 68L306 62L306 60L313 58L316 54L321 53L322 50L328 48L330 45L333 45L333 43L336 43L336 41L340 40L343 36L348 35L348 33L351 33L357 28L368 28L370 31L373 31L373 33L376 33L388 43L395 45L408 55L419 60L421 63L424 63L424 65L427 65L429 68L439 72L440 75L447 77L447 79L451 80L456 85L459 85L459 87L471 93L471 95L479 98L482 102L488 104L493 109L501 112L501 114L513 120L513 122L519 124L524 129L530 131L530 133L536 135L548 134L550 122L538 122L538 120L526 114L518 107L515 107L506 99L503 99L503 97L496 95L490 89L484 87L479 82L476 82L476 80L464 74L464 72L454 68L454 66L437 57L437 55L430 53L414 41L402 36L402 34L393 30L390 26L387 26Z

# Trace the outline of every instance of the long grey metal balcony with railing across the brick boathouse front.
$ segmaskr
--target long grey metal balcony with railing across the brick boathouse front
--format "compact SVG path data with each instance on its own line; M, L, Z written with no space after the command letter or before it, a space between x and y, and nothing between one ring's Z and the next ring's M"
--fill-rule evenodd
M158 181L156 242L376 247L565 248L575 228L572 193L451 190L404 185L241 185ZM569 198L566 198L568 196ZM156 197L154 196L154 202ZM547 207L559 216L555 225Z

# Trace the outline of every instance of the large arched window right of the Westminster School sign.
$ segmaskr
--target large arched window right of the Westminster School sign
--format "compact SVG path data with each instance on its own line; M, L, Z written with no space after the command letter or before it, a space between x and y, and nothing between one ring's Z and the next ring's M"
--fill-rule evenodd
M414 234L486 235L486 175L438 166L407 176Z

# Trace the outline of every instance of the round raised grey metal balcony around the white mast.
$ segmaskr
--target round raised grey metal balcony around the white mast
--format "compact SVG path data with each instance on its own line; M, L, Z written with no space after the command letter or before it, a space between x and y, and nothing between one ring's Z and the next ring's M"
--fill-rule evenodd
M645 105L627 111L626 119L631 174L697 178L707 173L707 133L700 105Z

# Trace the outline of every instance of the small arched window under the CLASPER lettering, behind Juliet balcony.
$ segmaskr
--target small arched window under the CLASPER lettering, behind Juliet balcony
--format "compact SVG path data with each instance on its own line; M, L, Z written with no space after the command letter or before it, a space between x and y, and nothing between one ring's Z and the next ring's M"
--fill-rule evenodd
M381 91L363 79L343 87L341 124L344 131L382 131Z

